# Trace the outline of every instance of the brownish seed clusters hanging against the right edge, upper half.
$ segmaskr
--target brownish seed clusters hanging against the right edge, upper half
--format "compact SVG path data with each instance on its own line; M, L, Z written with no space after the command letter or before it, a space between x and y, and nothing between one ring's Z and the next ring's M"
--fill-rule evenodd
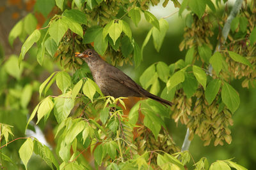
M230 59L230 56L227 53L223 53L226 62L228 63L228 71L221 71L221 76L223 76L225 80L229 80L230 77L237 79L244 78L242 86L249 88L250 85L254 87L256 84L256 48L255 45L250 45L250 34L256 27L256 10L244 10L240 13L239 17L244 17L248 20L246 31L241 35L241 31L239 30L240 27L237 27L235 32L230 32L230 34L234 35L228 36L227 45L221 46L221 49L232 50L233 52L246 57L250 64L252 64L252 67L241 64L240 62L235 62ZM233 39L233 37L236 39Z

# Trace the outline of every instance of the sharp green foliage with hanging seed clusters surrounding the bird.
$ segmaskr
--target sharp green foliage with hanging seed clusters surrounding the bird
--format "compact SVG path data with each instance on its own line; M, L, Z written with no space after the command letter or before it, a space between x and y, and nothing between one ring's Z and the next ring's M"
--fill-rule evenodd
M228 126L233 124L232 115L239 108L240 99L229 82L243 78L243 87L255 85L256 11L253 1L243 2L241 12L231 22L227 41L221 36L221 31L216 31L216 28L223 27L228 17L227 11L221 13L219 0L169 2L179 8L179 15L188 10L180 50L189 50L184 60L170 66L164 62L152 64L141 75L140 83L152 94L161 92L161 97L173 102L171 108L147 99L136 103L129 115L125 115L124 98L103 96L92 80L88 66L74 57L75 52L94 48L115 66L132 63L132 59L136 67L140 66L143 48L150 37L159 52L169 27L164 18L158 20L148 11L150 3L154 6L159 1L49 0L44 3L38 0L36 11L48 17L44 27L36 29L33 13L13 27L10 44L17 37L26 41L19 59L13 55L1 61L1 85L10 83L8 79L16 83L8 87L8 92L0 91L5 107L12 105L12 110L4 111L24 112L10 120L10 124L24 120L17 127L20 132L33 129L32 120L36 117L38 125L45 124L49 118L56 122L54 153L34 137L28 137L20 144L19 157L26 169L33 153L51 169L92 169L92 165L81 157L85 151L92 153L95 167L106 169L185 169L191 155L179 152L179 147L166 131L165 120L171 116L175 122L189 128L190 140L198 135L204 145L210 145L211 141L214 141L214 146L231 143ZM167 3L164 1L163 6ZM58 8L54 15L50 13L52 8ZM131 22L138 26L143 16L151 29L140 48L132 36ZM212 37L218 43L212 43ZM33 46L34 43L37 47ZM216 50L214 46L217 46ZM61 67L61 71L49 70L51 75L41 84L33 78L31 83L22 81L28 78L33 67L24 57L33 49L37 50L34 55L44 69L50 66L49 60ZM38 68L38 74L41 71ZM54 82L61 92L58 96L50 92ZM163 90L161 83L166 86ZM34 104L26 124L28 103L34 91L39 92L42 100ZM9 121L10 118L6 119ZM1 148L9 147L8 138L13 136L11 127L1 124L1 139L6 141ZM2 162L20 166L10 159L8 150L1 152L1 158ZM231 160L217 160L209 165L207 159L202 158L194 164L195 169L245 169Z

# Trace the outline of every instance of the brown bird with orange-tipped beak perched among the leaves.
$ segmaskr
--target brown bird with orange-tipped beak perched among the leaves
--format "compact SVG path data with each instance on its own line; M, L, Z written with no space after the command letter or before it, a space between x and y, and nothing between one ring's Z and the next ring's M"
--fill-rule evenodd
M104 61L93 49L86 49L84 52L75 53L76 57L83 59L92 72L93 80L99 86L104 96L118 97L147 97L154 99L164 106L172 106L173 103L162 99L147 90L143 89L127 74L108 62Z

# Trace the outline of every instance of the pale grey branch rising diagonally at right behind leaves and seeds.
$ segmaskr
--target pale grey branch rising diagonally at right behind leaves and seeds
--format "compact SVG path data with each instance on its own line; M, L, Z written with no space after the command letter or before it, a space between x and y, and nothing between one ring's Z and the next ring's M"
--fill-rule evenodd
M231 24L232 20L236 17L238 11L241 8L242 3L243 3L243 0L236 0L235 4L234 4L234 6L233 6L233 8L230 12L230 15L228 15L227 21L225 22L224 27L223 27L222 32L221 32L222 36L223 36L223 44L227 40L228 33L230 31L230 24ZM221 43L219 43L219 45L217 46L214 53L216 51L220 50L220 45L221 45ZM210 74L210 76L212 76L212 66L211 66L211 64L209 66L209 74ZM185 139L184 139L183 144L182 144L181 152L189 149L189 145L190 145L191 141L189 141L188 138L189 138L189 128L187 129L186 136L185 136Z

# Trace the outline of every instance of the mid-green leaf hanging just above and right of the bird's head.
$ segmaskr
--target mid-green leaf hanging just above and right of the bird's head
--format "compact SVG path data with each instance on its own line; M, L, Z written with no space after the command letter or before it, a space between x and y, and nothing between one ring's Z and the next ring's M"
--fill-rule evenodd
M94 49L99 55L104 55L108 48L108 41L102 35L103 29L100 29L97 36L94 39Z

